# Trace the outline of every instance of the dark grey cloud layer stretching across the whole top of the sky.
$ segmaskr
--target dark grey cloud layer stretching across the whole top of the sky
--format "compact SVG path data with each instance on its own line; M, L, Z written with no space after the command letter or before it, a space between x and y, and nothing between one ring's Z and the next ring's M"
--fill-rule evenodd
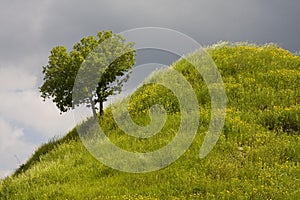
M299 7L298 0L6 0L0 7L0 65L20 63L32 55L45 62L54 46L71 48L99 30L121 32L143 26L172 28L204 45L249 40L278 42L295 51L300 46L295 23Z

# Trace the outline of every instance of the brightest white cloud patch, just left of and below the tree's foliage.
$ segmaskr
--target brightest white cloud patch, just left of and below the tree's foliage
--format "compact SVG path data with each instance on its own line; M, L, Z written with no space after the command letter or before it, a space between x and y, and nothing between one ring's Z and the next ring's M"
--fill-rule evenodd
M0 99L0 114L44 136L63 134L74 126L71 112L60 115L51 101L42 101L38 91L0 93Z

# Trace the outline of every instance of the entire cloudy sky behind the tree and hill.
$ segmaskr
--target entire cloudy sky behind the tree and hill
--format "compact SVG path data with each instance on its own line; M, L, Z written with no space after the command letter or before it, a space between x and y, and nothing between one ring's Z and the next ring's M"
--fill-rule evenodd
M273 42L296 52L299 10L299 0L1 0L0 177L75 125L72 111L60 115L38 90L53 47L70 49L100 30L154 26L180 31L204 46Z

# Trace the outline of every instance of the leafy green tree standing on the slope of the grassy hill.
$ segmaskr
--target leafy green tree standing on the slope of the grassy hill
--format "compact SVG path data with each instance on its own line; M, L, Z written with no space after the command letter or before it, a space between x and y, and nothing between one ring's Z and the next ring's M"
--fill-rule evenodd
M121 35L112 31L100 31L97 37L82 38L69 53L64 46L54 47L50 52L48 65L43 66L41 97L44 100L52 99L61 113L85 103L92 107L94 117L95 105L99 104L102 115L103 103L110 95L121 92L134 64L133 43L126 43ZM74 84L78 82L77 75L82 70L95 76L89 75L81 80L85 87L77 87L77 91L74 90ZM97 84L89 85L91 79ZM74 91L80 94L80 98L74 98Z

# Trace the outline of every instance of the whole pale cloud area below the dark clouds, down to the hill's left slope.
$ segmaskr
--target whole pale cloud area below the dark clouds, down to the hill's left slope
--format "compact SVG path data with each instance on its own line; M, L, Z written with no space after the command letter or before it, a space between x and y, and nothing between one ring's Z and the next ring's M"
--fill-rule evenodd
M51 101L42 101L36 84L37 77L28 71L0 68L0 177L24 163L39 145L30 132L51 138L75 125L71 112L60 115Z

